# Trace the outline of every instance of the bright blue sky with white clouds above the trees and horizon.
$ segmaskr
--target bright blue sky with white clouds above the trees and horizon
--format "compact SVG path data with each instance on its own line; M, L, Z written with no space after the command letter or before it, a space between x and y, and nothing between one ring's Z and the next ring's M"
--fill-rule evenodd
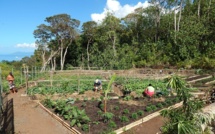
M13 54L10 59L20 59L20 53L33 54L36 49L33 32L45 23L46 17L65 13L83 24L100 22L107 11L122 18L138 7L147 6L145 0L0 0L0 60L3 55Z

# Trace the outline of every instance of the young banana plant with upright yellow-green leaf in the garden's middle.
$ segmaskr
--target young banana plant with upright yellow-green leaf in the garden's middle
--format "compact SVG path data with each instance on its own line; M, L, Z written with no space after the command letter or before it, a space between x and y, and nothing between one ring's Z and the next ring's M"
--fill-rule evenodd
M107 89L104 90L104 112L105 113L107 112L108 93L111 92L111 90L112 90L111 86L112 86L113 82L115 81L115 79L116 79L116 74L113 74L111 76L111 79L110 79L109 83L108 83Z

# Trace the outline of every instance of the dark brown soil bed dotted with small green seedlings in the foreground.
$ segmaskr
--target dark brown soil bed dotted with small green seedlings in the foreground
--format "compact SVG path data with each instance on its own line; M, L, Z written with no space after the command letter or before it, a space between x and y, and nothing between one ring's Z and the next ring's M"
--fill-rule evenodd
M102 134L109 133L117 130L125 125L135 122L149 114L152 114L165 107L177 103L179 100L175 97L167 98L154 98L148 100L146 98L139 98L135 100L123 101L122 99L114 99L107 101L107 116L112 117L104 118L103 101L97 99L91 100L76 100L71 106L75 106L80 110L85 110L86 115L90 118L87 123L82 122L81 127L74 126L82 134ZM47 103L44 103L47 106ZM60 118L65 120L62 111L56 110L57 106L52 106L50 111L59 115ZM65 112L64 112L65 114ZM109 115L108 115L109 114ZM71 120L65 120L68 124Z

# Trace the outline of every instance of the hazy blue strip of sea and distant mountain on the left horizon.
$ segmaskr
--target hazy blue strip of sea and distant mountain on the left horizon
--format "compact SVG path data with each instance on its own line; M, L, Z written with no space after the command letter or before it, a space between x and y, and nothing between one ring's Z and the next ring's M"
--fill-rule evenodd
M34 52L14 52L11 54L0 54L0 62L3 60L6 61L19 61L24 57L30 57Z

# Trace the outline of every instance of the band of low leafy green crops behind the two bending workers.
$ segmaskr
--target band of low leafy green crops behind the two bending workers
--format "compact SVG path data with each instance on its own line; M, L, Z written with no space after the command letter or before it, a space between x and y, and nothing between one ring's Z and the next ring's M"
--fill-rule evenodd
M102 81L103 89L107 89L109 79L101 75L86 76L86 75L53 75L45 78L46 80L38 81L37 86L28 89L28 94L71 94L78 92L84 93L88 90L93 90L93 84L96 79ZM125 91L135 91L142 93L143 90L151 83L156 90L167 90L164 80L155 79L140 79L127 78L117 76L114 82L117 85L122 85Z

